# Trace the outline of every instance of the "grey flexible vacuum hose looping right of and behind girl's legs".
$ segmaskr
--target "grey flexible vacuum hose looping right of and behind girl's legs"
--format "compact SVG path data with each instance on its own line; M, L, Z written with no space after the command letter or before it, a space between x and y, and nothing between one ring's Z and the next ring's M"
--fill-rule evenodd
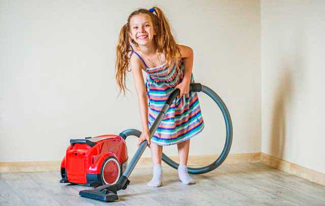
M200 91L201 90L201 91ZM225 158L228 156L228 153L230 151L232 141L233 141L233 125L232 125L232 120L229 114L229 111L227 107L225 106L224 102L222 99L210 88L202 85L202 89L198 89L197 92L203 92L207 94L209 97L211 97L214 102L218 105L219 109L221 110L221 113L224 118L225 122L225 128L226 128L226 137L225 137L225 142L224 142L224 147L219 155L219 157L209 164L208 166L202 167L202 168L187 168L187 171L189 174L204 174L208 173L217 167L220 166L220 164L225 160ZM163 161L165 161L169 166L172 168L178 169L179 164L170 159L166 154L163 153Z

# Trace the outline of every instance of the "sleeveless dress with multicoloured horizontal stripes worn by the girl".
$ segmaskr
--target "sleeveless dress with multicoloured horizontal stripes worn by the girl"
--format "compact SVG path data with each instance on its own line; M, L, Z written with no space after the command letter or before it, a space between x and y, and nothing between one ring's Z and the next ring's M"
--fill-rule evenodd
M181 63L179 72L176 66L169 68L167 63L149 68L143 58L132 50L146 66L146 91L148 97L148 126L151 127L161 108L174 88L181 83L184 64ZM191 83L194 82L191 74ZM158 129L151 138L157 145L173 145L186 141L199 134L204 128L198 94L189 92L176 98Z

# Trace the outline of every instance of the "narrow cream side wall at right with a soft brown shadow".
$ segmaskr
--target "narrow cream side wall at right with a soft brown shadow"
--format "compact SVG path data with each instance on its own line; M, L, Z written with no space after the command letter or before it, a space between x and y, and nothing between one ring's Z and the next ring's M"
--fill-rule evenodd
M325 2L262 1L262 152L325 173Z

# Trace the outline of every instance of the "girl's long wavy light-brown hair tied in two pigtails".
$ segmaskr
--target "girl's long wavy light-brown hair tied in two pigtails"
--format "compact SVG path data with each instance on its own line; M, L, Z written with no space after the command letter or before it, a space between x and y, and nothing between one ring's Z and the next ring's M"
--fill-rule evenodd
M161 11L161 9L157 7L153 7L152 9L154 10L154 13L151 13L147 9L138 9L132 12L127 18L127 23L124 24L121 28L116 46L115 62L115 78L120 90L119 94L121 93L121 91L123 91L123 94L125 95L125 89L127 89L125 87L125 77L126 71L130 71L128 70L129 58L131 57L128 56L128 53L131 51L130 42L132 42L134 45L137 45L137 43L131 38L131 36L129 36L129 32L131 31L129 23L131 18L135 15L147 14L150 16L156 32L156 35L154 36L153 40L157 51L165 54L166 62L170 65L170 67L173 67L176 64L176 69L177 71L179 70L181 53L171 32L169 22L163 11Z

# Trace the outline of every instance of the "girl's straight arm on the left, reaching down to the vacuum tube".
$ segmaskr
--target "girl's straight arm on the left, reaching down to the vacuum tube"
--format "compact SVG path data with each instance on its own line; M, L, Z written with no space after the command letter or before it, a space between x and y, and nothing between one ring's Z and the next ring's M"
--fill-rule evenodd
M139 145L144 140L147 140L148 145L150 145L150 133L148 127L148 102L144 79L142 76L142 62L138 57L136 57L136 55L132 55L130 59L130 66L138 95L140 119L142 123L142 134L139 138Z

